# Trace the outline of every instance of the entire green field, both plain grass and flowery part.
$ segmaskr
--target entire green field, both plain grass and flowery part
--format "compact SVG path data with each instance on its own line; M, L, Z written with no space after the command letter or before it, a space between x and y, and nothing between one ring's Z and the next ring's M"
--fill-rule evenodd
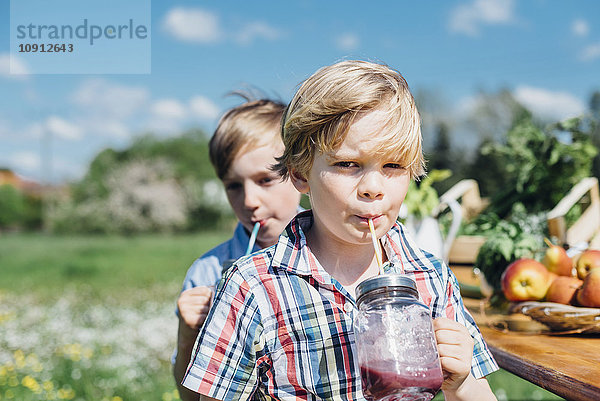
M178 399L175 300L227 237L1 234L0 400ZM505 371L489 379L499 400L561 399Z

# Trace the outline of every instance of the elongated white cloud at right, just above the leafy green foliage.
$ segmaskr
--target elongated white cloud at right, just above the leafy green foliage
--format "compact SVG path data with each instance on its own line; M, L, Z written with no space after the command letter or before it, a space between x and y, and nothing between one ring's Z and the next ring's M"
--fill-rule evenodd
M585 112L584 102L567 92L520 86L515 89L514 96L533 113L553 120L576 117Z

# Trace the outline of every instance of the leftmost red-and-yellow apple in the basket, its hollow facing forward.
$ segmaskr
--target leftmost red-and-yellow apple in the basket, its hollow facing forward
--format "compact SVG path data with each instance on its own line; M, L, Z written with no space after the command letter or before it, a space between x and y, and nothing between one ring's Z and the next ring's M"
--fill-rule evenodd
M538 301L550 286L548 269L537 260L521 258L508 265L500 284L509 301Z

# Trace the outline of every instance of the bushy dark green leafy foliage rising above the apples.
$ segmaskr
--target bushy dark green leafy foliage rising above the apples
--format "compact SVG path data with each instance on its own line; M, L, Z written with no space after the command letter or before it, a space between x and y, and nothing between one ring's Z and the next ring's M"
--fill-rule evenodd
M530 214L552 209L573 185L590 175L598 151L586 129L580 118L546 130L529 118L519 121L503 143L482 146L485 159L481 160L494 161L502 177L491 193L488 211L506 218L516 203L522 203Z

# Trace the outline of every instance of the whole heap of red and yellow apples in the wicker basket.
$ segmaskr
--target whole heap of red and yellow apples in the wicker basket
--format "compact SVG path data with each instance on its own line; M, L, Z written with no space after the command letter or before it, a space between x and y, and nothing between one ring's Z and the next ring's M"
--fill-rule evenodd
M546 243L542 262L521 258L504 270L501 287L506 299L600 307L600 250L585 250L573 260L563 247Z

